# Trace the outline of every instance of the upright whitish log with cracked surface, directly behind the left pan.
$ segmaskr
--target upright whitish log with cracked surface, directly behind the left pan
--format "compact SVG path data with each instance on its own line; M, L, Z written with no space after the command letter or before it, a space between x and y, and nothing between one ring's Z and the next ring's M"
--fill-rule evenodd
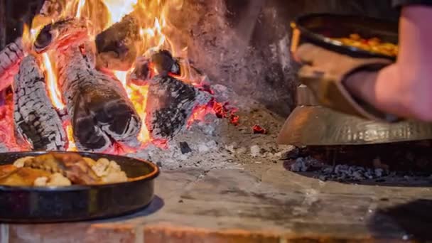
M18 134L34 150L65 149L68 139L63 123L50 102L43 72L32 55L23 58L13 92L13 119Z

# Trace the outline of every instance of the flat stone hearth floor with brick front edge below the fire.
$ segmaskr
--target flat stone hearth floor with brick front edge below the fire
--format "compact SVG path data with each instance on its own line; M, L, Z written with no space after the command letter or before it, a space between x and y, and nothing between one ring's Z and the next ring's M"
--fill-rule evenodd
M269 162L163 171L156 198L141 212L97 222L1 225L0 242L387 242L432 239L431 226L427 186L323 182Z

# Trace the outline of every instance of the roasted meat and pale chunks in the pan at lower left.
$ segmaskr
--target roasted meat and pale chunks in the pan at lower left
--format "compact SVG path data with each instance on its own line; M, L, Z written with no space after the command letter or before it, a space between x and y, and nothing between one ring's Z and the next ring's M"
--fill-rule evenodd
M126 173L115 161L107 158L95 161L77 153L46 153L0 166L0 185L99 185L127 180Z

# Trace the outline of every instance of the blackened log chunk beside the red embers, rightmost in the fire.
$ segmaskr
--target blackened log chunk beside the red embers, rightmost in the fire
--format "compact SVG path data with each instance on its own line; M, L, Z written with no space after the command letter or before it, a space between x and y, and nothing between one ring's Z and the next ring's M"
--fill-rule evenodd
M153 77L148 87L146 125L155 139L172 139L183 131L193 108L210 96L170 76Z

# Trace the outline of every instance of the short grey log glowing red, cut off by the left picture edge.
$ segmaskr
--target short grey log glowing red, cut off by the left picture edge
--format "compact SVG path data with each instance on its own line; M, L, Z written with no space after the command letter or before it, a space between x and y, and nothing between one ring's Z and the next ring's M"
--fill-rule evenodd
M18 73L23 56L24 51L21 38L17 38L13 43L6 45L0 51L0 90L4 90L12 84L13 76Z

